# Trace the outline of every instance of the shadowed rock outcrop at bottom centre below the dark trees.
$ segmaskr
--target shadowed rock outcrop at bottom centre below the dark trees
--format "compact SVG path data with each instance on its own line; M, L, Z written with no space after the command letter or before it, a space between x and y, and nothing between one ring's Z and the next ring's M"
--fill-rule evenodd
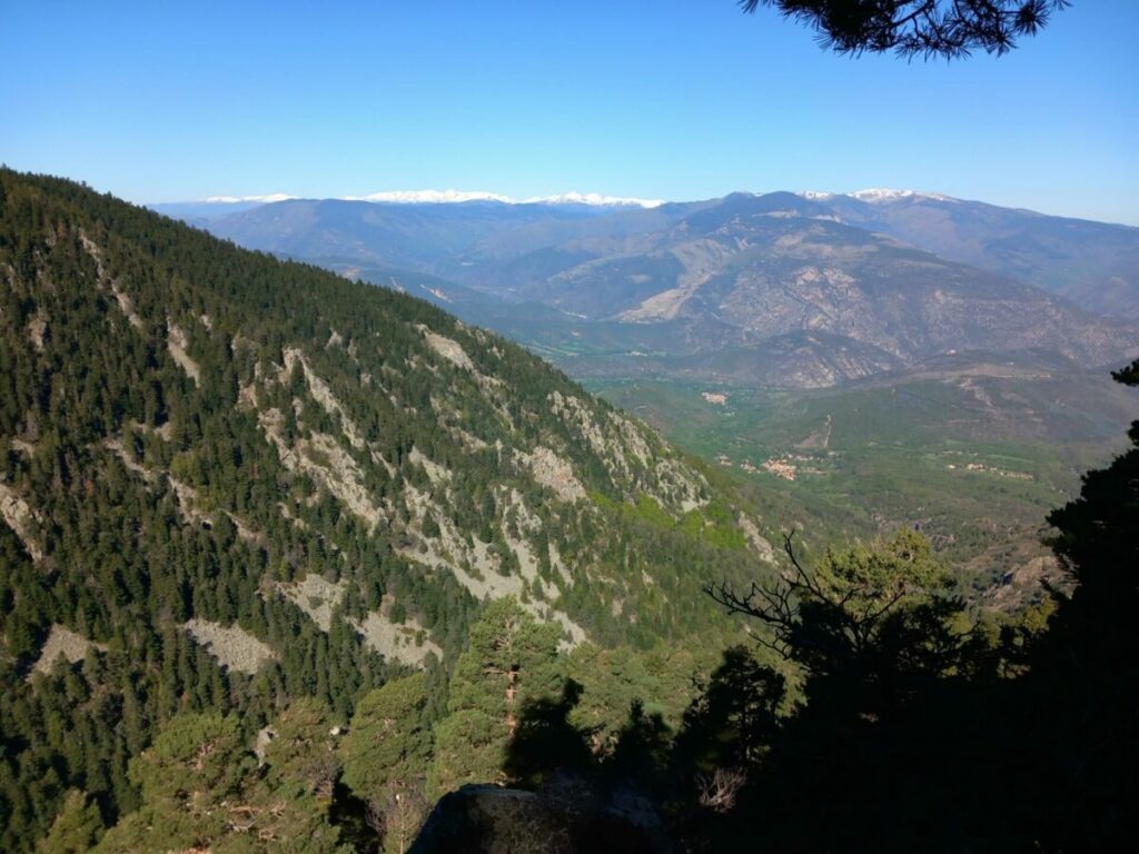
M541 790L464 786L440 798L410 854L667 854L659 816L637 794L601 796L558 779Z

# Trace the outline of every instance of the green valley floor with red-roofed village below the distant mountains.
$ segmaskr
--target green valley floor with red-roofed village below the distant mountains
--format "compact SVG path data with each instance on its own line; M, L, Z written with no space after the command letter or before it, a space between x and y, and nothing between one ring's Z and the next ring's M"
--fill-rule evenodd
M785 527L829 542L918 527L970 597L1000 607L1042 596L1006 588L1039 572L1048 511L1121 449L1117 424L1139 414L1107 377L1015 364L814 392L587 385L752 484Z

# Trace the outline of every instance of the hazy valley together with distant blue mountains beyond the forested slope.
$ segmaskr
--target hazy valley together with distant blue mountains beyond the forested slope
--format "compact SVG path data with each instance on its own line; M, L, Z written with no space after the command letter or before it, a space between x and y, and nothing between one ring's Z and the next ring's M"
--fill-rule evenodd
M1139 340L1137 229L886 190L293 200L204 224L522 343L749 484L781 529L920 527L1001 607L1041 596L1001 586L1039 575L1048 509L1136 414L1108 373Z

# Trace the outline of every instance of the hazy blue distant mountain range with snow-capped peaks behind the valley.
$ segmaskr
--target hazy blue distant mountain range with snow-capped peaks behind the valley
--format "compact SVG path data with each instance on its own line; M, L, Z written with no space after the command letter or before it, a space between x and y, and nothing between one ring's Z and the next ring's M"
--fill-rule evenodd
M342 272L453 281L466 317L589 373L816 387L956 351L1113 364L1139 340L1125 320L1139 317L1139 229L937 194L740 192L621 210L290 200L208 228Z

